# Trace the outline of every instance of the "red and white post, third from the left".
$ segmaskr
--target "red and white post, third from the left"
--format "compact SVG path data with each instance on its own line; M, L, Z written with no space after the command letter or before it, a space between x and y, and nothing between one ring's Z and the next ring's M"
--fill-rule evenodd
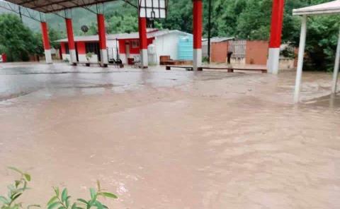
M105 17L102 13L97 14L97 23L98 23L99 48L101 49L101 66L108 66Z

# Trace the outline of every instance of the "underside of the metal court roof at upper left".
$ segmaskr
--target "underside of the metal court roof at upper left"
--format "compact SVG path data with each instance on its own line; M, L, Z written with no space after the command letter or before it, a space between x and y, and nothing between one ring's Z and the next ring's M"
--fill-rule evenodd
M75 8L81 6L91 6L115 0L6 0L13 4L17 4L26 8L40 11L43 13L52 13L62 11L67 8Z

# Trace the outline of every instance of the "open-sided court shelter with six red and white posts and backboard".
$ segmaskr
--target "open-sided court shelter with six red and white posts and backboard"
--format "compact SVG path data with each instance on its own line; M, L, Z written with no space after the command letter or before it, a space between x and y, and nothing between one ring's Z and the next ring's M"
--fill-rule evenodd
M96 13L98 22L98 37L101 57L101 66L108 65L108 52L106 50L106 26L104 17L104 4L109 1L118 0L6 0L18 6L20 8L28 8L40 13L42 40L45 48L46 63L52 64L50 40L48 37L48 27L45 19L47 13L54 13L55 15L62 16L64 18L67 28L67 39L69 42L70 61L72 64L77 64L76 46L74 44L74 32L72 26L72 8L85 8L89 12ZM6 2L3 1L3 2ZM142 68L148 67L147 59L147 18L164 18L166 17L166 11L171 8L167 8L168 0L139 0L138 5L133 4L134 1L125 1L131 6L135 6L139 13L139 35L140 35L140 61ZM202 34L203 34L203 1L192 0L193 2L193 69L198 70L202 66ZM91 6L95 6L95 8ZM149 6L151 5L151 6ZM273 0L273 9L271 16L271 37L269 42L269 57L268 57L268 71L274 74L278 73L278 62L280 54L281 44L281 31L283 27L283 10L284 0ZM0 6L1 7L1 6ZM10 9L16 12L15 9ZM64 13L62 13L64 11ZM149 16L151 14L151 16ZM154 17L152 17L154 16ZM36 19L35 19L36 20Z

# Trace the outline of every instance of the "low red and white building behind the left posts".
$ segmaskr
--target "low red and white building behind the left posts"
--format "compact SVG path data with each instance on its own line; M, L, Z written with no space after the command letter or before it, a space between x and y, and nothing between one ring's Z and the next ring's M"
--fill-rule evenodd
M180 40L184 37L192 40L192 35L179 30L147 30L147 44L150 64L159 64L160 56L170 56L171 59L179 59L181 54L179 47ZM61 45L62 59L68 59L69 47L68 40L57 40ZM86 54L93 52L91 62L101 61L99 51L98 35L74 37L76 42L77 61L86 62ZM128 58L139 59L140 40L138 32L109 34L106 35L108 49L108 59L121 59L124 64L128 63ZM193 49L191 48L191 54Z

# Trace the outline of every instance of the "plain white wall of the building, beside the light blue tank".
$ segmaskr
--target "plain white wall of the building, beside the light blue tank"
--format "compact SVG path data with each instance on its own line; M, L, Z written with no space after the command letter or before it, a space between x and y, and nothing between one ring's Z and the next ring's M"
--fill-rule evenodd
M156 37L154 45L156 46L157 64L159 64L159 56L170 56L171 59L178 59L178 45L180 35L172 32L166 35Z

